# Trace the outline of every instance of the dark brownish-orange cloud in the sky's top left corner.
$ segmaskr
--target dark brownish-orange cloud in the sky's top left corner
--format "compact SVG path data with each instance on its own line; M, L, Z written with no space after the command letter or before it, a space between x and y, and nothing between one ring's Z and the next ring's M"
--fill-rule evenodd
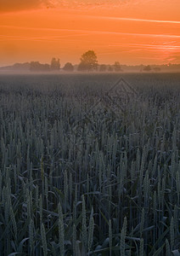
M0 0L0 13L52 6L50 0Z

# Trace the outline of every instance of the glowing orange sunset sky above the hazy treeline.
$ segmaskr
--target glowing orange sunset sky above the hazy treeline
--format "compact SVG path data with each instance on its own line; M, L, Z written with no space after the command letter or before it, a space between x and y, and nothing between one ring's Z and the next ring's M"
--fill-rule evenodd
M179 0L0 0L0 66L180 63Z

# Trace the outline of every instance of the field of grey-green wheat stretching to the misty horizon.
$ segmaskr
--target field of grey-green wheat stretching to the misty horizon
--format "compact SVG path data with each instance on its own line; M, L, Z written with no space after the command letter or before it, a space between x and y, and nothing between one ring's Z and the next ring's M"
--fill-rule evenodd
M180 255L180 73L1 75L0 136L1 255Z

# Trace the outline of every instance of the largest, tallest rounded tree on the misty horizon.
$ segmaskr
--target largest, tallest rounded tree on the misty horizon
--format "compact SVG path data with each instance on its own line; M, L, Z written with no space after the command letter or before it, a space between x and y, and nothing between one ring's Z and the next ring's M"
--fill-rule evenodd
M82 55L81 62L78 66L79 71L93 71L98 68L97 55L93 50L88 50Z

